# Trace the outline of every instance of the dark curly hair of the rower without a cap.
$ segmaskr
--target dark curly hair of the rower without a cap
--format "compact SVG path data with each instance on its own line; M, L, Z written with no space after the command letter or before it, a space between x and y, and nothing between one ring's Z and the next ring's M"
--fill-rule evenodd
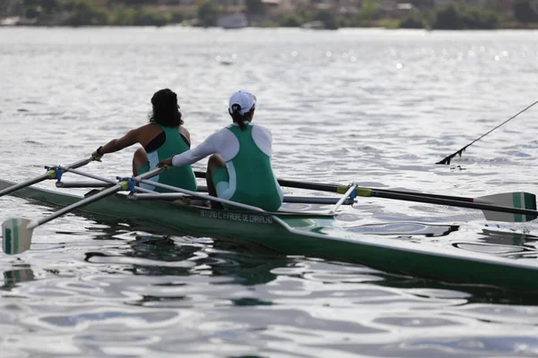
M165 127L178 127L183 124L179 112L178 95L169 89L158 90L152 97L153 110L149 115L150 123Z

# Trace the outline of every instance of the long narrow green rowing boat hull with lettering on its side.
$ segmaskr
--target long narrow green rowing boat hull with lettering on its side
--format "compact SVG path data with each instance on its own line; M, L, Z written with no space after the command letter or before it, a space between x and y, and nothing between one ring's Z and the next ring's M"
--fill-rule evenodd
M0 190L13 184L0 180ZM62 208L83 199L79 195L30 186L11 194ZM92 217L145 220L156 229L167 226L182 234L240 238L284 254L355 262L391 273L452 283L538 289L538 263L534 261L464 251L451 245L438 247L353 233L343 229L334 213L221 210L187 205L185 200L142 199L143 194L117 192L77 211Z

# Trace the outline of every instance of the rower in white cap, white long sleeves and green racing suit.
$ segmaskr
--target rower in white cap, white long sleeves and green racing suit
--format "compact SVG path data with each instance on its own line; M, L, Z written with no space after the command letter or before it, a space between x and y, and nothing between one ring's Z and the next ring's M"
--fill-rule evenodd
M159 166L189 166L213 154L206 175L210 195L276 211L283 195L271 167L273 137L265 127L252 124L255 109L256 96L239 90L230 98L232 124L195 149L161 160Z

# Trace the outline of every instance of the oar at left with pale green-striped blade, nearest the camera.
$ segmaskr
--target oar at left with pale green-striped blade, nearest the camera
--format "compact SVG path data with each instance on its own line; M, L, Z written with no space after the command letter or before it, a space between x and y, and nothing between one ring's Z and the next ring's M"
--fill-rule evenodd
M110 195L113 195L120 191L134 191L134 180L135 179L145 179L151 178L152 176L158 175L165 168L157 168L150 172L144 173L143 175L138 175L135 178L126 178L122 179L116 185L98 192L97 194L91 195L86 199L75 202L72 205L65 207L64 209L59 209L55 213L49 215L48 217L42 217L39 220L30 220L25 217L12 217L8 218L2 224L2 232L4 233L4 252L10 255L21 253L30 249L31 235L33 230L45 223L48 223L50 220L54 220L56 217L61 217L75 209L79 209L85 205L91 204L97 200L106 198Z

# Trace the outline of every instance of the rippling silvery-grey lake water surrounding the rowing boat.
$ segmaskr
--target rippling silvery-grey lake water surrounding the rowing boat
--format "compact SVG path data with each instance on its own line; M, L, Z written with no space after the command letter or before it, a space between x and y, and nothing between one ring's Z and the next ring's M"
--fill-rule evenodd
M273 131L281 178L536 192L538 108L451 166L434 163L537 100L537 70L533 31L0 29L0 176L87 157L144 124L166 87L197 144L229 123L227 99L246 89L258 98L255 121ZM133 152L84 170L129 175ZM2 219L54 210L12 197L0 205ZM534 223L491 223L469 209L360 199L340 219L363 234L536 257ZM58 218L31 251L0 256L0 270L3 357L538 355L535 294L141 222Z

